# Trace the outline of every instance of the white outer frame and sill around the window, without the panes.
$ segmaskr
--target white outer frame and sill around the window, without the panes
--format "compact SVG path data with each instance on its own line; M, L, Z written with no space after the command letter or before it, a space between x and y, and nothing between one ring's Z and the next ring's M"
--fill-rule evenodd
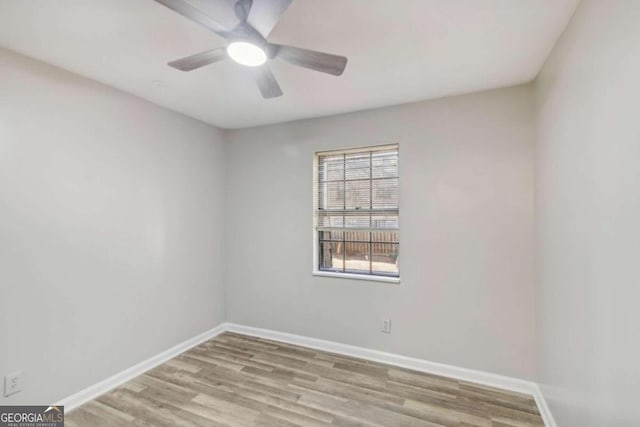
M319 268L319 256L320 256L320 248L319 248L319 235L318 235L318 215L316 212L318 210L318 177L319 177L319 158L320 156L326 156L331 154L351 154L358 153L361 151L383 151L388 150L389 148L396 148L398 150L398 154L400 153L400 144L385 144L385 145L375 145L375 146L363 146L363 147L353 147L348 149L340 149L340 150L328 150L328 151L318 151L314 153L313 156L313 228L312 228L312 238L313 238L313 260L312 260L312 275L317 277L329 277L329 278L337 278L337 279L353 279L353 280L361 280L361 281L369 281L369 282L383 282L383 283L400 283L400 270L398 270L398 276L383 276L383 275L375 275L375 274L354 274L354 273L346 273L346 272L336 272L336 271L324 271ZM400 164L398 160L398 177L400 176ZM400 178L398 178L398 186L400 186ZM398 199L400 198L399 188L398 188ZM400 208L400 201L398 200L398 209ZM400 217L398 216L398 221L400 222ZM400 233L400 230L398 230ZM399 245L399 244L398 244ZM398 246L400 249L400 246Z

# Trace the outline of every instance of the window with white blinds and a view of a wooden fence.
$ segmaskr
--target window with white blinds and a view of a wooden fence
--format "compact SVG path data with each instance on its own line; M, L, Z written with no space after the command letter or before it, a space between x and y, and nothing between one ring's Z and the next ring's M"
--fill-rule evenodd
M398 157L397 145L316 154L317 272L399 278Z

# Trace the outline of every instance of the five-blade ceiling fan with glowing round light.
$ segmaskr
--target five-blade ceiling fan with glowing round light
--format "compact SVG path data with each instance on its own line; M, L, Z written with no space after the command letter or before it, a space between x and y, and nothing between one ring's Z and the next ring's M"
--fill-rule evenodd
M155 0L227 39L226 48L217 48L169 62L181 71L191 71L230 57L253 67L262 97L276 98L282 89L267 61L281 59L299 67L339 76L347 58L299 47L269 43L267 37L293 0L207 0L203 12L186 0Z

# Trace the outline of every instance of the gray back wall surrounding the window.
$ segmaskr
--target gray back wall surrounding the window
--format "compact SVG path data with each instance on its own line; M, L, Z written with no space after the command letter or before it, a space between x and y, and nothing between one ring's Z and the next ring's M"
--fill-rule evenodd
M532 379L532 91L230 132L228 319ZM394 142L401 284L313 277L314 152Z

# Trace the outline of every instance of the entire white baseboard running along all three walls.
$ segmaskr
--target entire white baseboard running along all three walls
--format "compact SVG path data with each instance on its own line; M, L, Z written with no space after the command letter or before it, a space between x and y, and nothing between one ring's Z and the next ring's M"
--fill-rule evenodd
M113 375L97 384L85 388L71 396L62 399L57 405L64 405L65 411L71 411L78 406L86 403L115 387L124 384L145 373L146 371L178 356L198 344L203 343L217 335L225 332L236 332L254 337L266 338L274 341L282 341L289 344L310 347L317 350L328 351L331 353L342 354L346 356L359 357L374 362L385 363L402 368L413 369L415 371L427 372L435 375L455 378L462 381L474 382L490 387L501 388L504 390L514 391L532 395L538 405L545 426L557 427L549 406L542 395L540 387L533 381L526 381L519 378L512 378L490 372L477 371L473 369L460 368L457 366L446 365L443 363L429 362L423 359L402 356L399 354L386 353L383 351L372 350L364 347L357 347L349 344L342 344L333 341L321 340L317 338L305 337L286 332L278 332L269 329L254 328L252 326L238 325L234 323L222 323L219 326L206 331L200 335L190 338L162 353L153 356L147 360L138 363L116 375Z

